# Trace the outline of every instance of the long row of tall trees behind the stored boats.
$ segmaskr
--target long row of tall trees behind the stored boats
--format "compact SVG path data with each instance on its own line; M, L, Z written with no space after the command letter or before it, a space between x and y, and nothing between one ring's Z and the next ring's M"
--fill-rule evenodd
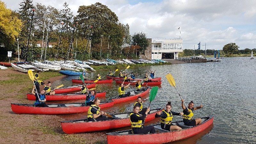
M11 11L0 1L0 11L4 11L0 14L4 19L0 23L2 60L7 58L7 51L17 51L18 43L21 58L28 61L41 55L42 59L44 55L46 59L117 59L121 51L121 58L131 58L133 50L139 52L149 45L145 33L131 35L129 25L119 22L116 14L101 3L79 6L76 16L66 2L61 10L34 4L33 0L23 0L19 5L18 11ZM54 46L49 48L49 43ZM132 46L121 47L126 44Z

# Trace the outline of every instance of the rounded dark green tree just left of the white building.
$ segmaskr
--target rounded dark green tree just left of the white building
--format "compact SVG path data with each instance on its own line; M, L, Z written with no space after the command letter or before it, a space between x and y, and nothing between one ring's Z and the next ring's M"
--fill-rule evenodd
M147 39L147 34L144 32L138 32L138 33L134 33L132 35L132 44L135 45L137 43L137 45L140 46L140 51L144 49L144 51L146 50L146 48L149 45L148 39ZM143 53L143 52L142 52Z

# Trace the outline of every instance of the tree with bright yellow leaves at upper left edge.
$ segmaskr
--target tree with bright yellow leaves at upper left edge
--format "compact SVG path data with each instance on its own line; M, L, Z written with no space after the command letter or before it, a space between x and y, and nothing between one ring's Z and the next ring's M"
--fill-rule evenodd
M21 20L0 1L0 44L14 43L20 34Z

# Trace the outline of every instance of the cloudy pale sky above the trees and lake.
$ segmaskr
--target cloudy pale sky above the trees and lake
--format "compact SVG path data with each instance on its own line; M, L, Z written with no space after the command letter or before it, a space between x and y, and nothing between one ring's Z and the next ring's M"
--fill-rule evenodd
M1 0L7 8L18 10L22 0ZM183 49L220 50L236 43L239 49L256 48L255 0L34 0L63 9L67 2L74 15L80 5L100 2L115 12L118 20L129 24L130 33L145 32L148 38L183 39ZM180 30L178 29L180 27ZM180 34L181 32L181 34Z

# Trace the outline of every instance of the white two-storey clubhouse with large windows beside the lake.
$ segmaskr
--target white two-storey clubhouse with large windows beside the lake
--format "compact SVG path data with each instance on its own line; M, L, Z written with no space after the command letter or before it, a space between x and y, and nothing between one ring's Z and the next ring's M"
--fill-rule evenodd
M152 38L151 59L175 59L182 50L182 38Z

